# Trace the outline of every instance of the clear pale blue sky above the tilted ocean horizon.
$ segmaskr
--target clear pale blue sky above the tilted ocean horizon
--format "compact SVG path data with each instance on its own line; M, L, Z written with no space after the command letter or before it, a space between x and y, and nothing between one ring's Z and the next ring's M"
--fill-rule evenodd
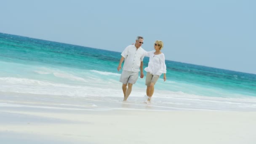
M256 74L255 0L5 0L0 32Z

